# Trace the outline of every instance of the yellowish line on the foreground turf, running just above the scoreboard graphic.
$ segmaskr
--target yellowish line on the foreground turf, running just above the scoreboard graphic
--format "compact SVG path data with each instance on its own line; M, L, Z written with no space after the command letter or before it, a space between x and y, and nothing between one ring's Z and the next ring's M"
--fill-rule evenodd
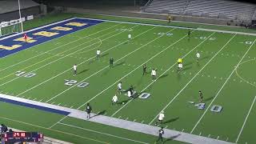
M11 121L11 122L18 122L18 123L22 123L24 125L34 126L34 127L38 127L38 128L45 129L45 130L50 130L50 131L58 132L58 133L61 133L61 134L72 135L72 136L77 137L77 138L84 138L84 139L87 139L87 140L90 140L90 141L94 141L94 142L101 142L101 143L109 144L108 142L102 142L102 141L99 141L97 139L87 138L87 137L83 137L83 136L80 136L80 135L77 135L77 134L67 133L67 132L64 132L64 131L61 131L61 130L54 130L54 129L50 129L50 128L47 128L47 127L44 127L44 126L34 125L34 124L31 124L31 123L28 123L28 122L22 122L22 121L18 121L18 120L11 119L11 118L5 118L5 117L1 117L1 116L0 116L0 118L6 119L6 120Z

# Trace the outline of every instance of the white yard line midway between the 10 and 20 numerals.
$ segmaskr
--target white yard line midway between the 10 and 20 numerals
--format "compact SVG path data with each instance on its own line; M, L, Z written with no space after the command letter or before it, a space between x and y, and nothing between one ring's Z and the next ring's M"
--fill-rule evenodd
M135 38L135 37L134 37L134 38ZM126 41L125 41L125 42L126 42ZM121 44L122 44L122 43L121 43ZM118 45L116 45L116 46L112 46L110 49L103 51L102 54L105 53L106 51L109 51L109 50L114 49L114 48L117 47L117 46L120 46L121 44L118 44ZM85 62L90 61L90 60L93 59L93 58L96 58L96 56L91 57L91 58L89 58L89 59L86 59L86 61L83 61L83 62L79 63L78 66L82 65L82 64L85 63ZM41 82L41 83L39 83L38 85L33 86L33 87L31 87L30 89L28 89L28 90L23 91L21 94L24 94L24 93L26 93L27 91L32 90L32 89L34 89L35 87L38 87L38 86L42 85L43 83L48 82L48 81L50 81L51 79L56 78L56 77L58 77L59 75L64 74L64 73L66 73L67 71L72 70L72 69L73 69L73 68L70 68L70 69L68 69L68 70L64 70L62 73L59 73L59 74L55 75L54 77L49 78L49 79L47 79L46 81ZM80 82L79 82L79 83L80 83ZM79 83L78 83L78 84L79 84ZM77 86L77 84L74 85L74 86ZM71 87L72 87L72 86L71 86ZM18 95L20 95L20 94L18 94Z

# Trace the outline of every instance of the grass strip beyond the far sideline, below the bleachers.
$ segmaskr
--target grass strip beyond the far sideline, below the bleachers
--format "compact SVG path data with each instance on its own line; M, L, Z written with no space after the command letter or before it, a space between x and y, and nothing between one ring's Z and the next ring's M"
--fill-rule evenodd
M31 21L24 22L24 30L30 30L32 28L43 26L52 22L58 22L66 18L81 17L81 18L98 18L105 20L114 20L121 22L140 22L148 24L158 24L164 26L182 26L190 28L204 28L204 29L213 29L213 30L229 30L229 31L238 31L245 33L256 33L256 30L246 29L244 27L234 27L234 26L214 26L206 24L197 24L190 22L171 22L170 24L162 20L150 20L143 18L126 18L126 17L117 17L117 16L107 16L102 14L74 14L74 13L61 13L61 14L49 14L42 18L35 18Z

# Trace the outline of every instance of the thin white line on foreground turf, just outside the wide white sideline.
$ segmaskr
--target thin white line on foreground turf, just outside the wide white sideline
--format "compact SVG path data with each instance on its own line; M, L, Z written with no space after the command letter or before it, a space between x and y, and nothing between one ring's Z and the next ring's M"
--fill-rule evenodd
M106 133L103 133L103 132L100 132L100 131L90 130L90 129L86 129L86 128L83 128L83 127L80 127L80 126L74 126L74 125L70 125L70 124L66 124L66 123L62 123L62 122L58 122L58 124L63 125L63 126L74 127L76 129L80 129L80 130L86 130L86 131L94 132L94 133L97 133L97 134L107 135L107 136L114 137L114 138L120 138L120 139L124 139L124 140L127 140L127 141L147 144L147 142L140 142L140 141L137 141L137 140L134 140L134 139L130 139L130 138L123 138L123 137L120 137L120 136L117 136L117 135L113 135L113 134L106 134Z

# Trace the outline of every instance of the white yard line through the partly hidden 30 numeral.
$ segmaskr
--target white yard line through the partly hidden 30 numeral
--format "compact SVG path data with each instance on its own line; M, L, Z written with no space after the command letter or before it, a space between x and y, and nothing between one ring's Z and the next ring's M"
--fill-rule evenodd
M204 39L202 42L200 42L199 44L198 44L198 46L200 46L200 45L202 45L202 43L203 42L206 42L206 40L208 39L208 38L210 38L213 34L215 34L215 33L212 33L212 34L210 34L206 39ZM188 53L186 53L182 58L185 58L188 54L190 54L193 50L195 50L198 46L195 46L192 50L190 50ZM161 78L162 77L162 75L164 75L164 74L166 74L166 72L167 71L169 71L172 67L174 67L175 65L177 65L177 62L174 62L174 64L172 65L172 66L170 66L166 71L164 71L160 76L158 76L158 78ZM146 90L149 86L151 86L154 82L157 82L157 80L158 80L158 78L156 78L156 81L153 81L153 82L150 82L150 84L148 85L148 86L146 86L143 90L141 90L141 91L144 91L144 90ZM132 100L130 100L129 102L126 102L126 104L124 105L124 106L122 106L120 109L118 109L114 114L112 114L111 116L113 117L115 114L117 114L120 110L122 110L125 106L127 106L131 101L133 101L133 99ZM158 115L157 115L157 117L158 117ZM157 118L156 117L156 118ZM151 123L151 122L150 122Z

